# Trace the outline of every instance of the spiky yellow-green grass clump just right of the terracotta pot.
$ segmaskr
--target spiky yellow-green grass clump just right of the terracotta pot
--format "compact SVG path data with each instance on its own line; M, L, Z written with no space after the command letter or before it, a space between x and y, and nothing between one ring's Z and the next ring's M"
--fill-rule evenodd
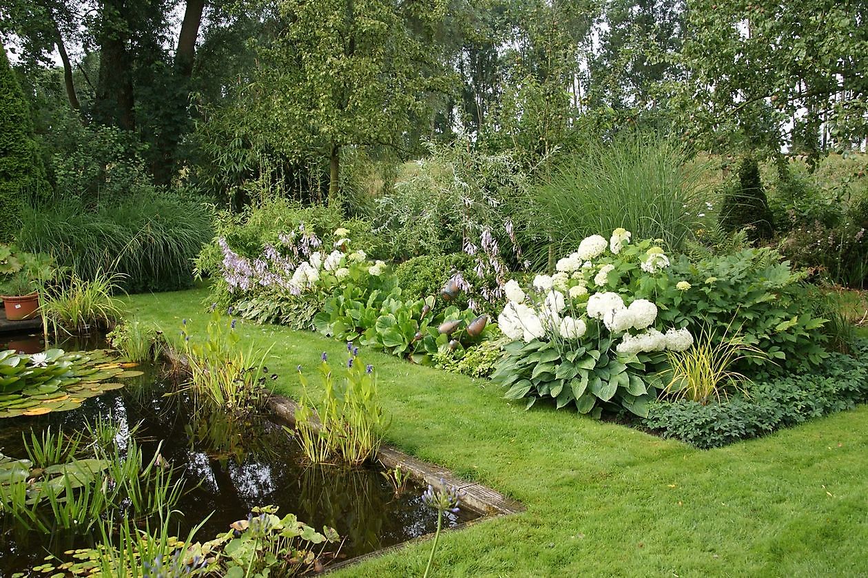
M42 296L40 311L55 327L69 333L105 329L121 317L121 301L114 297L120 289L122 273L97 269L91 279L73 271L61 284L49 287Z

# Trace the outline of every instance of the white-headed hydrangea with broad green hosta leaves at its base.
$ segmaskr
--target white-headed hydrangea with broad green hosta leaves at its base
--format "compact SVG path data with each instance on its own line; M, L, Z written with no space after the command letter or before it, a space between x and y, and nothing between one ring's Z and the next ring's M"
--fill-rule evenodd
M610 239L592 235L557 261L556 273L537 275L532 286L504 286L510 302L498 317L513 342L492 378L506 397L554 397L596 416L602 404L647 413L660 387L665 351L684 351L691 333L655 303L670 279L667 254L652 240L630 243L616 229Z

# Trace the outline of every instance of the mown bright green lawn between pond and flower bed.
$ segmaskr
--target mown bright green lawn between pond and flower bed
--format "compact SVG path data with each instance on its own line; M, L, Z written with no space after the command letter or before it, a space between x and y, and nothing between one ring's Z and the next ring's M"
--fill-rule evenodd
M203 290L136 295L166 332L207 324ZM241 323L272 345L280 393L295 367L345 345ZM388 441L524 503L527 511L449 532L436 575L868 575L868 408L701 451L628 427L503 400L484 380L362 353L393 422ZM420 576L430 542L339 576Z

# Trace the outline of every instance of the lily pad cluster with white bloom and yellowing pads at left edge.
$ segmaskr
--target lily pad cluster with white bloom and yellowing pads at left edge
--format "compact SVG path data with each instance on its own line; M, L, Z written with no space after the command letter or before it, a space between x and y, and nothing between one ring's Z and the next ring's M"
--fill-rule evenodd
M49 349L32 355L0 351L0 417L74 410L88 397L122 388L116 379L142 375L128 370L134 366L103 350Z

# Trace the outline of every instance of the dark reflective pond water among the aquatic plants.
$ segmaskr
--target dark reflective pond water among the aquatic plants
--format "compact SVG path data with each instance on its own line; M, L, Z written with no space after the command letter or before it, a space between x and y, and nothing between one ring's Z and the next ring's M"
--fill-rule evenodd
M267 504L279 506L280 515L296 514L316 529L324 524L337 529L346 538L341 557L366 554L437 528L437 514L422 503L418 485L395 496L382 469L373 466L306 467L298 444L264 416L240 424L212 420L192 425L179 398L163 396L170 386L162 383L161 370L139 369L145 376L128 380L122 390L88 399L75 411L0 419L0 452L26 457L23 432L49 426L72 432L82 430L86 419L110 415L121 426L120 438L139 424L135 437L146 454L153 456L159 445L161 456L184 476L187 492L176 506L183 512L178 518L181 537L211 515L196 535L197 540L211 539L246 518L253 507ZM451 527L478 515L462 511L449 516ZM92 539L19 534L7 528L0 536L0 576L29 568L49 552L90 545Z

